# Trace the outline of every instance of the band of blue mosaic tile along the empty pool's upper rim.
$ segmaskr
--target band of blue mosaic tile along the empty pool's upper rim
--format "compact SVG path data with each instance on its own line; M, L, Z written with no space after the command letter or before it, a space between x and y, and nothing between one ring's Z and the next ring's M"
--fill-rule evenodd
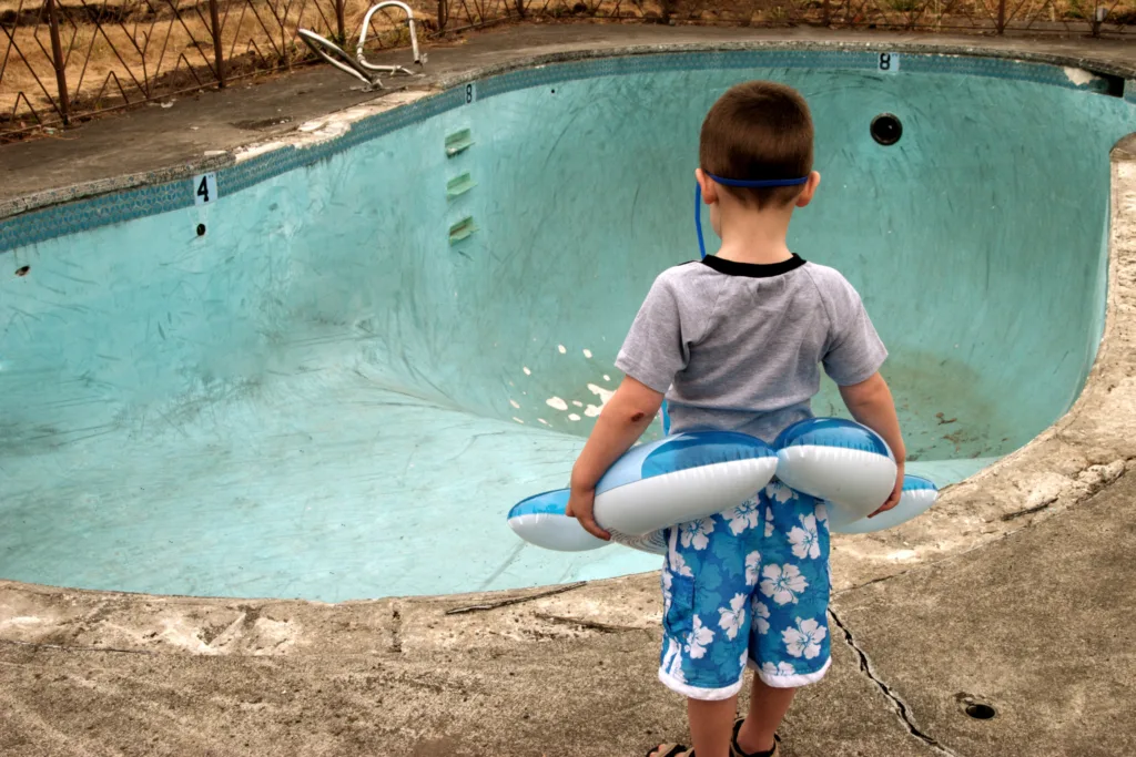
M914 74L987 76L1034 82L1075 90L1106 91L1108 83L1096 79L1076 84L1059 66L1001 58L972 58L953 54L900 53L902 69ZM877 70L879 52L853 50L729 50L637 54L549 64L487 77L476 83L477 99L544 86L557 82L678 70L818 68ZM1125 100L1136 104L1136 83L1126 82ZM352 126L345 134L312 148L283 148L236 166L219 169L220 194L234 194L253 184L302 166L340 154L362 142L374 140L466 102L465 85L424 98L408 106L377 113ZM193 204L191 182L181 179L142 186L67 204L52 205L0 220L0 252L44 242L67 234L87 232L110 224L187 208Z

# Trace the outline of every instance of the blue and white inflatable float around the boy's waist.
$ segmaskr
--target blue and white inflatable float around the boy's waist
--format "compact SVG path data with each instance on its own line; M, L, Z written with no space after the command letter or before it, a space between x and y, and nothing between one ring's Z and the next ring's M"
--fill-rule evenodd
M927 479L905 476L899 505L867 519L892 493L895 473L884 439L852 421L801 421L774 447L744 434L695 431L633 447L596 485L594 512L615 541L662 553L665 529L736 507L776 474L790 488L822 499L833 531L866 533L914 518L938 496ZM545 549L582 552L609 544L565 515L568 495L557 489L519 502L509 511L509 525Z

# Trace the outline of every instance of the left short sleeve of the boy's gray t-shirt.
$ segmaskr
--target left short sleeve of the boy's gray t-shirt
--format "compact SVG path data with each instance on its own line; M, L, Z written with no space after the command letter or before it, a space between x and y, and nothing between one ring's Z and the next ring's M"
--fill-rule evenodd
M616 368L655 392L666 393L675 375L686 368L690 347L674 281L666 274L655 279L640 308Z

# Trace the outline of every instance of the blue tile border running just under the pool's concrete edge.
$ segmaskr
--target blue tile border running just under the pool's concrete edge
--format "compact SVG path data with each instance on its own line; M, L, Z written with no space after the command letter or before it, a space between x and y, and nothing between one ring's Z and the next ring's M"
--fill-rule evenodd
M1088 78L1072 77L1067 68L1079 68L1081 61L1021 60L991 57L982 51L950 52L920 50L909 52L895 45L901 69L907 74L953 74L984 76L1031 82L1050 86L1106 93L1109 79L1099 74ZM194 166L134 175L98 184L106 185L105 193L76 199L84 187L68 187L36 195L42 207L23 210L17 200L16 215L0 220L0 253L34 245L69 234L90 232L102 226L120 224L147 216L193 205L192 174L216 170L222 196L234 194L253 184L273 178L302 166L308 166L375 137L411 126L433 116L461 107L467 102L467 84L473 84L477 100L500 94L543 86L565 81L579 81L602 76L707 69L842 69L864 73L878 72L884 48L872 49L790 49L770 45L757 48L730 47L716 50L628 49L594 53L566 53L545 59L515 64L503 70L475 72L454 77L437 94L387 110L356 123L350 131L335 138L311 146L293 145L272 150L242 162L232 155L214 158ZM1067 66L1062 66L1067 64ZM1102 67L1094 67L1099 70ZM1118 77L1119 78L1119 77ZM1136 86L1124 82L1124 99L1136 104ZM114 185L114 186L111 186ZM133 188L130 188L133 185ZM139 186L141 185L141 186ZM123 187L127 188L123 188ZM99 186L86 186L86 194L99 192ZM23 208L31 201L24 200ZM0 212L0 216L3 213Z

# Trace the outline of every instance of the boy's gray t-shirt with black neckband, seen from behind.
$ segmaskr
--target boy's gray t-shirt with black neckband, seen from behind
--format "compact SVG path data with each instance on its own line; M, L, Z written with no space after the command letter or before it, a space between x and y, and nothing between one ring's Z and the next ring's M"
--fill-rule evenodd
M793 256L759 266L708 256L663 271L616 368L667 395L671 431L741 431L771 441L812 417L819 364L836 384L887 358L841 274Z

